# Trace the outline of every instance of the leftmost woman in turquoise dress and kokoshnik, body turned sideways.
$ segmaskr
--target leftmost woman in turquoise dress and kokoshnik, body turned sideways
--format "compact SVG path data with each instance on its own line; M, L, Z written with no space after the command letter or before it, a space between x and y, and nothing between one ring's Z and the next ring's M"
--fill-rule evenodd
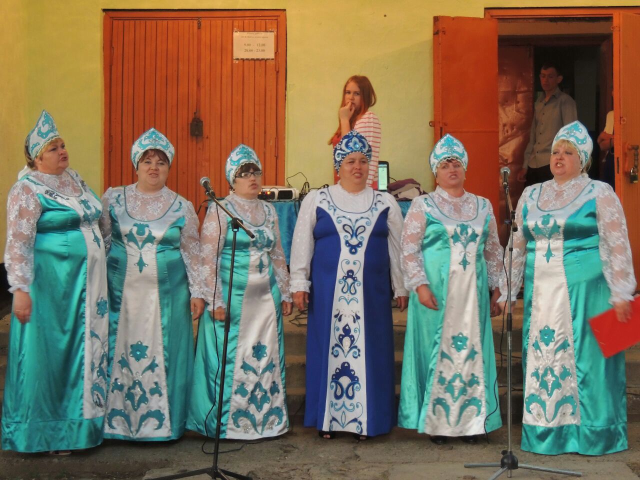
M71 450L102 443L108 303L102 207L69 166L42 111L25 143L27 166L7 202L4 264L13 312L2 447Z

